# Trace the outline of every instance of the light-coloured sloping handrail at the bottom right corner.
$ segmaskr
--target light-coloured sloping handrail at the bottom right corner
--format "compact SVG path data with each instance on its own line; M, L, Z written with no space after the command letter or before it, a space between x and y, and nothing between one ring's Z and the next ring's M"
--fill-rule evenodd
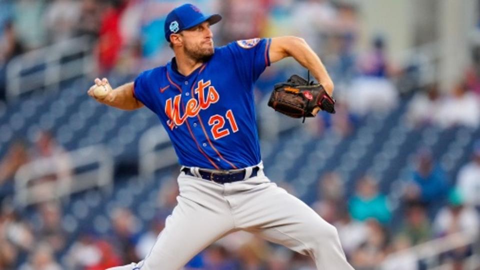
M475 243L478 243L478 235L468 233L468 232L460 232L460 233L455 233L451 234L449 236L443 237L443 238L438 238L434 240L430 240L428 242L416 245L414 247L401 250L392 254L389 254L388 256L385 257L383 262L381 263L381 266L379 269L383 269L383 267L386 267L386 264L390 260L394 260L395 258L401 258L403 256L414 256L417 261L423 261L426 259L435 259L434 257L438 257L442 253L445 253L447 251L455 250L461 247L465 247L468 245L473 245ZM477 247L474 247L477 248ZM473 253L475 254L475 253ZM472 261L470 263L474 263L475 261ZM478 263L478 261L476 261ZM438 267L437 265L431 265L437 263L435 260L428 260L428 269L431 269L433 267Z

